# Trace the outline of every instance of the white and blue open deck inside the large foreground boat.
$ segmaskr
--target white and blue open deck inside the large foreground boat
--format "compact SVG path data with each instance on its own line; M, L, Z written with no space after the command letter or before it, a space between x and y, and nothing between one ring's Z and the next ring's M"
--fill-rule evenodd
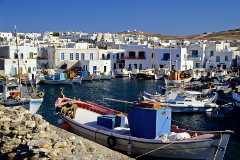
M96 129L101 129L106 132L131 136L130 128L115 127L114 129L108 129L108 128L97 125L98 116L101 116L101 114L94 113L86 109L78 108L76 111L76 116L73 120L78 123L84 124L86 126L93 127Z

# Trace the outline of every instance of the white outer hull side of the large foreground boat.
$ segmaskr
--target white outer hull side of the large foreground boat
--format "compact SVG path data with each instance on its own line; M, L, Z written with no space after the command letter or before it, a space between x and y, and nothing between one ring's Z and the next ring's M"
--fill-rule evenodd
M109 136L115 137L116 145L114 149L121 151L128 151L128 143L131 143L131 153L145 154L147 152L156 150L147 154L154 157L166 157L166 158L182 158L182 159L213 159L215 153L215 147L220 143L220 138L198 140L189 143L189 141L169 141L162 142L153 139L144 139L131 137L129 135L121 135L104 131L105 129L96 129L84 124L80 124L70 118L59 114L60 117L67 123L69 123L69 130L77 135L92 140L104 146L108 146L107 139Z

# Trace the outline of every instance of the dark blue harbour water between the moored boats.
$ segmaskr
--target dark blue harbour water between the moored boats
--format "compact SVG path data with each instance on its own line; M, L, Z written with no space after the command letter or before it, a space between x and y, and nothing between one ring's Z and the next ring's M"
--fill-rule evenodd
M54 114L54 104L58 98L59 88L63 88L63 94L65 97L75 97L76 99L80 98L81 101L84 102L89 101L128 113L130 111L131 105L122 102L109 101L106 99L103 100L103 97L129 102L138 102L141 92L147 91L149 93L155 93L158 91L158 86L164 86L163 81L133 80L129 78L82 81L81 84L73 85L39 84L36 86L37 91L45 90L46 94L44 96L44 101L37 113L41 114L43 118L50 124L61 127L57 123L59 116L57 114ZM27 87L27 90L32 90L30 85ZM230 118L213 118L211 117L211 113L172 113L172 124L178 125L179 128L193 131L234 131L235 134L230 136L224 160L240 159L239 122L240 117L238 116Z

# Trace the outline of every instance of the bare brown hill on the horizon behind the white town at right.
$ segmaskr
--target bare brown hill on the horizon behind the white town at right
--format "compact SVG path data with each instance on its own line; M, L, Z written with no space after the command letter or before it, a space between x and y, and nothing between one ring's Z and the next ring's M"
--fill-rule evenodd
M116 34L136 34L136 35L145 35L150 37L158 37L162 40L240 40L240 28L234 30L227 30L221 32L206 32L203 34L196 35L188 35L188 36L171 36L171 35L163 35L163 34L155 34L155 33L142 33L142 32L118 32Z

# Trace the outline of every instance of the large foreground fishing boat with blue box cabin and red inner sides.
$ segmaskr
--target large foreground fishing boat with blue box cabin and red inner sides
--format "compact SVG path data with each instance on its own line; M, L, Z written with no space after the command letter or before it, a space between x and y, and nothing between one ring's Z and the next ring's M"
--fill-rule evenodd
M232 131L180 129L171 125L171 108L161 108L157 102L152 104L157 108L143 104L126 114L60 94L55 109L63 128L138 157L144 154L179 159L223 158Z

